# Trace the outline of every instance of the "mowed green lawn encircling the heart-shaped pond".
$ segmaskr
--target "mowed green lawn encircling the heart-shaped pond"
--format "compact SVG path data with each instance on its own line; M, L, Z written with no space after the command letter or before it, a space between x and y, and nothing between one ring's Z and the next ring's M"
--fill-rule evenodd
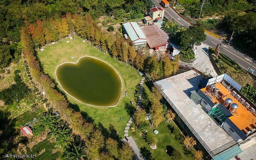
M137 70L132 69L130 65L125 66L125 63L121 63L120 61L111 58L110 55L105 55L104 52L95 49L95 47L90 45L87 41L83 43L82 40L82 38L76 36L76 39L60 41L54 45L45 47L44 51L38 53L38 58L41 61L44 72L49 74L52 79L56 80L55 69L59 64L64 62L76 62L84 55L99 58L114 67L121 76L123 83L122 97L115 107L92 107L73 99L67 94L66 95L67 99L72 104L77 104L80 111L85 112L85 114L82 114L85 115L85 118L89 116L89 118L91 117L96 124L100 122L105 128L109 128L110 125L113 125L115 129L119 131L119 135L124 137L125 126L130 119L130 115L128 115L125 110L125 104L134 101L133 93L135 86L140 83L142 77L137 73ZM67 43L66 41L70 42ZM71 59L71 57L75 58ZM61 89L59 85L58 87ZM128 96L125 96L125 91L128 91ZM121 118L122 121L120 120Z

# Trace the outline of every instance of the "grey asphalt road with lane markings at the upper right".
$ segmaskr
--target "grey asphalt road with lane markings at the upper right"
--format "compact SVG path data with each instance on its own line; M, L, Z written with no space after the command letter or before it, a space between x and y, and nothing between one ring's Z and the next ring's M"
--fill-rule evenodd
M162 7L159 2L160 0L151 0L153 3L155 2L155 6ZM177 22L180 26L190 26L188 22L183 20L182 17L177 15L177 13L171 8L164 8L166 10L164 17L167 19L173 19L175 22ZM221 41L220 39L217 39L215 37L212 37L211 35L207 35L207 39L203 42L204 44L207 44L210 47L216 48L217 44L221 44L220 52L224 55L227 55L232 60L236 61L244 70L248 70L248 68L253 64L253 58L249 57L248 55L245 55L244 53L239 52L237 49L234 49L232 46L226 44L224 41ZM252 70L254 70L253 75L256 76L256 63L253 64L251 67Z

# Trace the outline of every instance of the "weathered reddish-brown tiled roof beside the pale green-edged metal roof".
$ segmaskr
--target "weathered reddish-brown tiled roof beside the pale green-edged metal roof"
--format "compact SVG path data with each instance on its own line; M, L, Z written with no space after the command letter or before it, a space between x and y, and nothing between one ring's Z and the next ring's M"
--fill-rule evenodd
M160 29L161 26L151 25L141 28L147 38L147 43L150 48L155 48L168 44L168 34Z

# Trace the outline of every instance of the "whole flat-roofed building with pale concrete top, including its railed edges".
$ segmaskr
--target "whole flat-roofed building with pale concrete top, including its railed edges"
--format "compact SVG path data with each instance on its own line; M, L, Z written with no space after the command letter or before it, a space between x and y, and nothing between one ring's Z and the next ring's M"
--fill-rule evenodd
M160 90L163 97L169 102L213 160L229 160L242 151L237 142L233 140L233 137L230 137L216 123L216 120L208 115L209 111L204 107L205 103L209 103L212 108L217 107L217 104L211 101L210 96L199 90L198 84L201 79L203 79L201 75L194 70L189 70L185 73L155 81L154 85ZM225 122L226 119L222 120Z

